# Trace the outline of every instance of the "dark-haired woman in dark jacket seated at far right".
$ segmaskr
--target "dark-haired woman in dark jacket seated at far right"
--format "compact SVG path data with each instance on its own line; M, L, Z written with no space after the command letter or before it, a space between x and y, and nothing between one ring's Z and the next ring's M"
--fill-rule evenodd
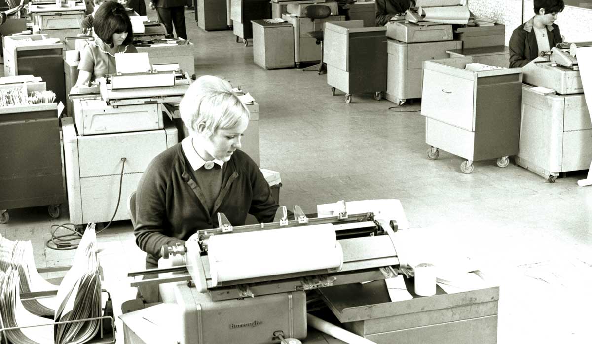
M535 17L515 28L508 44L510 67L522 67L562 42L557 14L565 8L563 0L535 0Z

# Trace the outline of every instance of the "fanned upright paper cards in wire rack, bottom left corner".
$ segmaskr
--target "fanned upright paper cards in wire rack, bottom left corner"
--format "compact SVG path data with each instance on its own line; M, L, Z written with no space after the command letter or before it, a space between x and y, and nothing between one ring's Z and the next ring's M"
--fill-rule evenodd
M0 328L20 327L3 332L10 343L79 344L96 335L101 320L75 321L101 316L96 254L96 233L94 225L89 225L72 267L56 287L37 272L30 241L0 236ZM56 289L55 297L21 300L21 293Z

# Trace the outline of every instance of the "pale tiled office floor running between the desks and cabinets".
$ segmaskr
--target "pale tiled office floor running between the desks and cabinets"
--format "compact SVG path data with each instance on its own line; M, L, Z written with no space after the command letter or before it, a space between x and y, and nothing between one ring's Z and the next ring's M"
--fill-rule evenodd
M390 109L367 94L348 105L342 93L331 96L325 75L264 70L253 64L252 47L235 43L231 31L202 31L193 15L186 11L197 74L222 76L260 104L261 165L281 173L283 205L316 212L318 203L340 199L400 199L410 231L465 250L497 278L498 343L591 342L592 187L577 186L583 173L549 184L492 160L462 174L459 157L426 158L424 119L408 112L419 103ZM0 233L31 239L38 267L70 263L72 252L44 248L50 225L67 222L67 213L50 220L40 207L10 215ZM143 268L143 254L131 224L115 223L99 245L104 287L116 305L133 298L126 273Z

